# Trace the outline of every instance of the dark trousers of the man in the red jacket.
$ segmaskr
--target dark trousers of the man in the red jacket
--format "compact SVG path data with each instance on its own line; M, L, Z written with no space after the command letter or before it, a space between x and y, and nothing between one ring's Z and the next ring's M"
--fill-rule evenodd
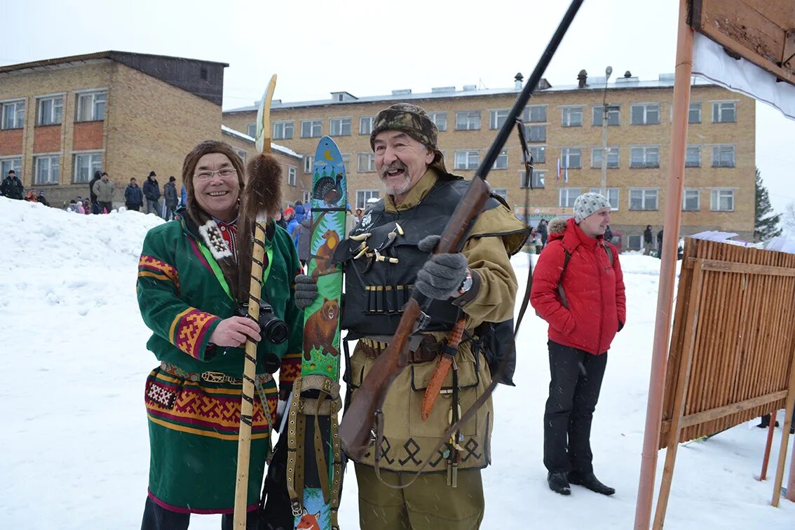
M553 341L548 344L552 380L544 412L544 465L552 473L591 473L591 421L607 353L593 355Z

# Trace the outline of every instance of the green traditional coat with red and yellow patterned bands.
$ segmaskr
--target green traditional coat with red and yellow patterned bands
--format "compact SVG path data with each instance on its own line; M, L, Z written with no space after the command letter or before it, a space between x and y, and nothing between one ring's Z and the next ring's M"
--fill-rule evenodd
M279 227L266 246L272 250L270 270L264 275L267 300L291 334L281 345L265 340L258 345L250 509L258 503L276 416L276 383L266 373L266 358L273 360L275 355L281 360L281 384L292 385L301 371L304 323L293 297L293 278L300 270L295 246ZM235 504L242 392L235 379L242 377L243 348L208 344L219 322L235 314L235 302L214 265L202 239L190 233L184 220L149 230L138 262L138 305L153 331L147 347L161 361L145 387L149 496L183 513L231 513Z

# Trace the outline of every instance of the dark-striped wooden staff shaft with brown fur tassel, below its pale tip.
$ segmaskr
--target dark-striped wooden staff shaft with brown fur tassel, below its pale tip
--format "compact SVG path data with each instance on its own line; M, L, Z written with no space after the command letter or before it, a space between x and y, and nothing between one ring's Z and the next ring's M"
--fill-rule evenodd
M238 300L248 309L248 317L259 321L260 297L262 296L262 271L267 268L266 234L273 234L273 222L269 219L281 204L281 165L271 155L260 154L246 164L247 182L241 193L240 218L242 230L238 254L238 292L248 293L247 300ZM246 242L252 242L247 246ZM241 295L242 296L242 295ZM240 427L238 435L238 472L235 486L235 528L246 526L246 497L251 453L251 420L254 414L254 376L257 367L257 343L246 341L243 365L242 401L240 404ZM262 403L263 407L268 404ZM267 416L267 415L266 415ZM272 425L270 427L273 427Z

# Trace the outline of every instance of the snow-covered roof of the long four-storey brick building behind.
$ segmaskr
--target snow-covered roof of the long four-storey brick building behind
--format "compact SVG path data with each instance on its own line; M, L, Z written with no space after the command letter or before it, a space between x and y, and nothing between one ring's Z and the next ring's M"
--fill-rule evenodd
M541 84L541 86L545 86L546 88L538 89L536 93L543 94L546 92L604 90L605 78L603 76L591 77L588 79L588 81L589 83L582 88L580 88L578 85L561 85L559 87L553 87L549 85L549 83L545 83L545 79L542 79L542 82L539 84ZM705 79L701 79L696 76L692 77L693 86L706 86L712 84L713 83L710 83ZM607 83L607 89L611 91L630 89L630 88L651 89L651 88L672 88L672 87L673 87L673 74L660 74L659 79L649 80L649 81L641 81L637 77L619 77L618 79L615 79L613 82ZM475 85L464 85L463 90L456 90L456 87L436 87L432 88L430 92L413 93L409 89L404 89L404 90L392 91L392 94L390 95L370 95L361 98L356 98L355 96L350 95L350 93L348 92L337 91L337 92L332 92L331 99L317 99L314 101L301 101L293 103L281 103L281 101L273 100L273 103L271 103L270 108L271 110L279 110L279 109L294 109L294 108L309 107L309 106L351 105L355 103L411 101L417 99L448 99L448 98L470 98L470 97L491 96L491 95L518 95L518 93L521 91L522 87L479 89L475 87ZM339 94L346 94L350 97L346 97L340 100L339 98L335 97L335 95ZM259 103L255 103L253 106L242 106L236 109L224 110L224 113L227 114L235 112L250 112L252 110L257 110L258 105Z

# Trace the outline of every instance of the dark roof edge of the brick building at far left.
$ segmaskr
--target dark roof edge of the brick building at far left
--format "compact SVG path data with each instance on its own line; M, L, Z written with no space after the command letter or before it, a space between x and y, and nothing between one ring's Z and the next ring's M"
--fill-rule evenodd
M7 64L0 66L0 75L45 72L67 65L96 64L107 60L151 75L216 105L222 103L223 68L227 68L229 64L210 60L108 50L107 52L36 60L29 63Z

